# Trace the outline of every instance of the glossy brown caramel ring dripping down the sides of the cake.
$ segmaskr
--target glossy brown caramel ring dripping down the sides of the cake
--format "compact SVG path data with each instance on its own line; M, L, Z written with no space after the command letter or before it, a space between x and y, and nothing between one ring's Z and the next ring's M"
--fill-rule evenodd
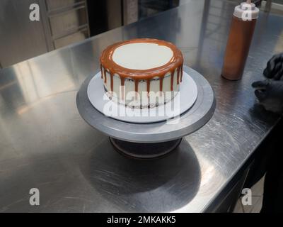
M129 43L156 43L158 45L165 45L168 48L171 48L173 51L173 57L171 60L166 63L166 65L162 65L161 67L155 67L148 70L132 70L117 65L112 60L112 55L116 48L121 45L129 44ZM168 43L163 40L149 39L149 38L137 38L133 40L122 41L120 43L115 43L113 45L108 46L102 55L100 56L100 70L101 77L104 76L104 83L107 82L106 79L106 69L110 73L110 86L111 92L113 91L113 75L118 74L121 79L121 86L125 85L125 78L130 78L134 80L134 91L138 92L139 80L146 80L146 90L149 92L151 79L154 77L159 77L160 79L160 92L163 90L163 78L166 73L171 73L171 91L173 91L173 81L174 81L174 73L177 70L177 84L182 82L183 77L183 55L182 52L172 43Z

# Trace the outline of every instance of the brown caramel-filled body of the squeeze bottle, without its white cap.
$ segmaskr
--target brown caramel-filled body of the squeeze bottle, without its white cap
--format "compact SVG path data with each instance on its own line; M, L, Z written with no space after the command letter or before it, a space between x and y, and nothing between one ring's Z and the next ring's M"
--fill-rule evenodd
M224 55L222 77L231 80L241 79L256 21L256 18L244 21L242 18L233 15Z

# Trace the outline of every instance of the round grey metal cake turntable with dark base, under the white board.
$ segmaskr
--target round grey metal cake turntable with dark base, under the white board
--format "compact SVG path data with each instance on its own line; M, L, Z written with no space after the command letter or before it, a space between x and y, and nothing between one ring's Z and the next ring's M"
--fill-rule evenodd
M88 100L86 78L76 95L76 105L81 117L93 128L110 137L115 150L129 157L154 158L175 150L185 135L197 131L212 117L215 110L214 92L200 73L184 66L183 70L197 84L195 104L175 122L128 123L118 121L96 110Z

